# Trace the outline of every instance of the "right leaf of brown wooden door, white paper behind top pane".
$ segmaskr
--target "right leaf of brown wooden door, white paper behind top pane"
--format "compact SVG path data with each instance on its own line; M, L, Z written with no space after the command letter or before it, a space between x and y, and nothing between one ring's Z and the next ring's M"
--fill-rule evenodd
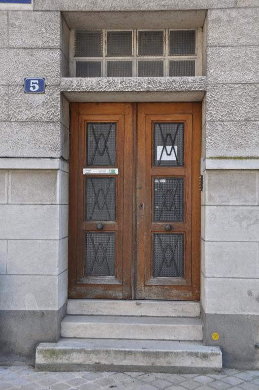
M196 181L199 185L199 110L199 105L192 104L138 107L136 296L139 299L199 299L200 218L195 218L197 212L192 214L193 203L200 210L200 193L199 190L195 193L197 186L193 186ZM193 111L197 112L196 125ZM161 134L159 146L155 139L157 132ZM184 140L182 153L180 138ZM193 166L193 160L197 159L198 164L196 161ZM176 198L182 215L177 212ZM154 204L156 199L158 203Z

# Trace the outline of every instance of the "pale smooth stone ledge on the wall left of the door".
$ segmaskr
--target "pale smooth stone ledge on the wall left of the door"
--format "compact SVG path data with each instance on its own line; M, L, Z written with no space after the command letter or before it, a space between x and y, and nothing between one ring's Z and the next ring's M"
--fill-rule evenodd
M69 172L69 164L60 158L1 157L0 169L60 169Z

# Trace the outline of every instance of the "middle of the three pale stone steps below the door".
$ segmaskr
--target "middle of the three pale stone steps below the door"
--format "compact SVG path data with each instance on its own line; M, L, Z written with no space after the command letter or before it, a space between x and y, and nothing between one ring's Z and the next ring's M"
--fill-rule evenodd
M200 318L67 315L61 337L202 340Z

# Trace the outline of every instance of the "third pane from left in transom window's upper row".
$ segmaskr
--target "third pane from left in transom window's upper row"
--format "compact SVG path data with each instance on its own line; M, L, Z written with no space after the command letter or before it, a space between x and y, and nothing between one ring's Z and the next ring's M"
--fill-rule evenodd
M164 31L139 31L139 55L164 55Z

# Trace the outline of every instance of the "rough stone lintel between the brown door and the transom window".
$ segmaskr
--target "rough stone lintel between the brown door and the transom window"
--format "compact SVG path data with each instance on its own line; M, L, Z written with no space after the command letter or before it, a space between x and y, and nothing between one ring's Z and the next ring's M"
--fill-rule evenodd
M69 102L201 102L206 77L62 78Z

